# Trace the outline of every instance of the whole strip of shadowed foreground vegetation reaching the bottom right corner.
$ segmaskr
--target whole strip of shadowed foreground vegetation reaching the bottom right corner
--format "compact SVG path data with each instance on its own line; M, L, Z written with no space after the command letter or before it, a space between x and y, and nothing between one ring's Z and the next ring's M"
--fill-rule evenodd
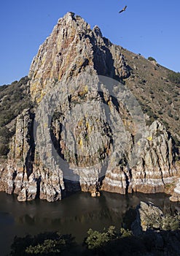
M158 233L154 230L147 230L141 236L134 236L132 231L124 228L117 232L114 226L110 226L107 230L104 229L103 232L90 229L87 231L87 238L83 244L77 244L71 235L61 235L58 232L41 233L25 238L15 237L9 255L163 256L164 251L168 251L169 256L179 255L179 251L174 251L174 246L179 248L180 243L177 239L180 236L178 222L166 216L163 223L164 230L159 230Z

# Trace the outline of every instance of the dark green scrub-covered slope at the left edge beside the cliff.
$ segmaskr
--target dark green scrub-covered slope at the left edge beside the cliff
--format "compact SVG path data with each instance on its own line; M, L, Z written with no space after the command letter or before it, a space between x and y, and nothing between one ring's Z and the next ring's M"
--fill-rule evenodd
M15 124L7 125L24 109L31 108L28 77L21 78L11 85L0 86L0 156L9 151L9 138L15 133Z

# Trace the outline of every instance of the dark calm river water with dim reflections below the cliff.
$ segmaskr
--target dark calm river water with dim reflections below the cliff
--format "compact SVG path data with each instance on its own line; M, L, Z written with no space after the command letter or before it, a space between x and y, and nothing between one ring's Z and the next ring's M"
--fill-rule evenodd
M136 208L141 200L151 201L163 211L177 206L165 194L118 195L103 192L101 197L94 198L79 192L55 203L42 200L21 203L17 202L15 195L0 192L1 255L9 251L15 236L60 230L63 234L71 233L77 242L82 242L90 227L96 230L109 225L121 227L125 216L130 216L130 209Z

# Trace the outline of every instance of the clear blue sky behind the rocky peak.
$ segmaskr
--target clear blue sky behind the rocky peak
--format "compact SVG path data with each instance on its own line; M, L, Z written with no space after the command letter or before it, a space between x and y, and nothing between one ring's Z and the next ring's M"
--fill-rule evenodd
M28 75L39 45L66 12L92 29L98 25L111 42L180 72L179 10L179 0L1 0L0 85Z

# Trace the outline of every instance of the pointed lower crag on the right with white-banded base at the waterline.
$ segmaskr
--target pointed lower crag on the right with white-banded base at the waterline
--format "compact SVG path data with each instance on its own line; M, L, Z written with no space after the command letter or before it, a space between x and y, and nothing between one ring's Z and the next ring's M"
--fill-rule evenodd
M159 121L154 121L146 134L143 154L135 167L128 170L126 162L106 173L103 187L110 192L165 192L165 185L178 176L173 165L172 139ZM117 178L118 177L118 178Z

